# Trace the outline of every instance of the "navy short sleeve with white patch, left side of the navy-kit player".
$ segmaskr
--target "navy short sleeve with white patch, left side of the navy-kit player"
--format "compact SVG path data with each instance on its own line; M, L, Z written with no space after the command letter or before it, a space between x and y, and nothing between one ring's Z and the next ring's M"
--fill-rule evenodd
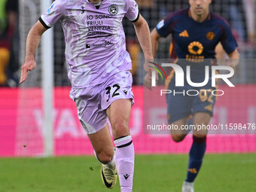
M172 16L172 13L169 14L164 20L161 20L156 26L158 34L163 38L166 38L172 32L172 23L174 23L174 19Z

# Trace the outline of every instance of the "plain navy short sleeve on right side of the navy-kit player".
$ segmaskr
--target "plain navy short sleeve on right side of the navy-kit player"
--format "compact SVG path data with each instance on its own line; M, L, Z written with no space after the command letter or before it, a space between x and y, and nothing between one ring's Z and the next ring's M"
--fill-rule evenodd
M227 54L232 53L234 50L236 50L237 43L236 39L234 38L230 26L227 22L224 22L222 27L222 34L221 34L221 44L224 50Z

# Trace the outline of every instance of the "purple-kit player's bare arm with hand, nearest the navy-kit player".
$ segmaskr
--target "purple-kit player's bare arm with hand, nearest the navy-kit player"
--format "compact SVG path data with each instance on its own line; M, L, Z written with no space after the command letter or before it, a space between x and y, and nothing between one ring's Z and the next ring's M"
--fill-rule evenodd
M151 76L151 68L149 67L150 63L148 62L153 62L154 57L152 54L151 34L148 27L148 23L140 14L139 19L133 23L133 26L135 28L136 35L139 40L139 44L142 47L142 51L144 53L145 72L147 72L147 74Z

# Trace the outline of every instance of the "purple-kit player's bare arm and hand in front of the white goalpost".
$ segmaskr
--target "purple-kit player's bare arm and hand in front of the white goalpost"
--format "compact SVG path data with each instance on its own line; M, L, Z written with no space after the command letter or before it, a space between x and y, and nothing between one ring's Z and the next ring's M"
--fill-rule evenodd
M35 53L38 48L41 35L43 35L46 30L47 29L38 21L29 31L28 37L26 38L25 62L21 67L20 84L26 81L28 72L35 69Z

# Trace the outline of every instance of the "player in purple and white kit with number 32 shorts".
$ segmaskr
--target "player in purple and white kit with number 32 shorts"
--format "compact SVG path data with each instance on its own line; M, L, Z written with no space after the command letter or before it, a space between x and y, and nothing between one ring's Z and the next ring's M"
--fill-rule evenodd
M29 31L20 83L35 69L35 52L41 35L58 20L66 41L66 62L72 83L70 97L87 132L97 159L102 163L102 181L120 191L133 190L134 147L128 128L133 105L132 63L126 51L122 20L133 22L145 63L153 60L148 23L134 0L56 0ZM145 70L150 75L148 65ZM107 118L110 120L114 153Z

